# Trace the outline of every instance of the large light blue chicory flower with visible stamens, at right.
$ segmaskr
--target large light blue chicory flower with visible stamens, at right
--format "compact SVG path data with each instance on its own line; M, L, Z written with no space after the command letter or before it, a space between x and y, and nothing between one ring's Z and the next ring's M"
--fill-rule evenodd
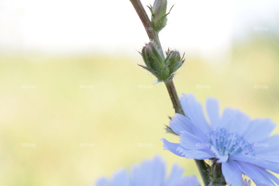
M176 114L169 122L180 135L180 143L165 139L164 149L197 160L215 158L222 164L226 183L242 185L242 173L256 185L279 184L269 171L279 173L279 135L270 137L275 124L271 119L253 119L239 110L225 108L220 115L219 101L206 100L208 121L194 95L180 98L185 116Z

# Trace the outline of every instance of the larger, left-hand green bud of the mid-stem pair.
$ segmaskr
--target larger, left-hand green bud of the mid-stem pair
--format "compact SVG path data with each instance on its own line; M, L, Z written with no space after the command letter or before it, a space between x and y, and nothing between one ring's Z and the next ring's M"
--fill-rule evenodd
M165 64L162 53L153 42L149 42L148 44L146 44L143 47L141 54L146 65L146 67L142 67L150 71L161 81L169 78L169 68Z

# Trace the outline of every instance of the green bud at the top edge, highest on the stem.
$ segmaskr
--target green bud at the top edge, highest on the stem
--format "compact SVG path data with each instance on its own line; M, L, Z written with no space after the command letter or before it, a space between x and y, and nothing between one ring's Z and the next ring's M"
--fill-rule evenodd
M167 24L167 0L155 0L151 11L151 23L157 33Z

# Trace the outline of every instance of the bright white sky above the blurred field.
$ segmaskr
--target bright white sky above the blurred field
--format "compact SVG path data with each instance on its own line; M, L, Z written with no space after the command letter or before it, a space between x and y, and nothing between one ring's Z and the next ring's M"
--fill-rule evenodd
M153 0L142 0L144 5ZM164 49L212 56L255 26L278 24L278 0L169 0ZM147 9L146 9L147 10ZM129 0L0 0L0 50L135 53L148 41Z

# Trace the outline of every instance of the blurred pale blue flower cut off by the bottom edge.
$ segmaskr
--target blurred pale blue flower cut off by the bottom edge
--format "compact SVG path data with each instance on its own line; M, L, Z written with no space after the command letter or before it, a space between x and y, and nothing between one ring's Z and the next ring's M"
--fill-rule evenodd
M174 164L166 176L165 162L159 156L134 165L130 172L120 169L111 178L100 178L96 186L200 186L196 176L185 177L183 169Z

